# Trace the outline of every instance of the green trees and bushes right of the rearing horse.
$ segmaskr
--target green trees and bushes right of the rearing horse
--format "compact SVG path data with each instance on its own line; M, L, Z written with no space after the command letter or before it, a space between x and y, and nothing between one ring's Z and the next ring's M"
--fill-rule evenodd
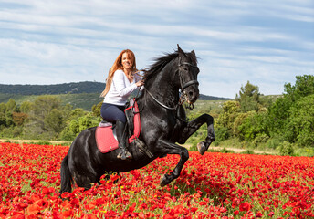
M275 101L262 98L247 81L234 100L226 101L215 120L215 144L238 141L244 148L277 149L282 155L314 155L314 76L297 76ZM197 116L197 115L196 115ZM205 137L203 132L198 134ZM197 134L196 134L197 136Z

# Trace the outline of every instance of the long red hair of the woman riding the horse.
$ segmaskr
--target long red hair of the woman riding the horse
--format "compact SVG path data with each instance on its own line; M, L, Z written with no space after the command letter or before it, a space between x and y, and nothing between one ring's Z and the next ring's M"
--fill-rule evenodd
M112 67L110 68L109 73L108 73L108 78L106 79L106 88L102 91L102 93L100 94L100 97L105 97L108 91L110 90L114 72L116 72L116 70L118 69L123 70L122 56L124 53L127 53L131 57L131 61L132 61L131 73L134 73L135 71L137 71L134 53L130 49L124 49L122 52L120 52L119 56L116 58Z

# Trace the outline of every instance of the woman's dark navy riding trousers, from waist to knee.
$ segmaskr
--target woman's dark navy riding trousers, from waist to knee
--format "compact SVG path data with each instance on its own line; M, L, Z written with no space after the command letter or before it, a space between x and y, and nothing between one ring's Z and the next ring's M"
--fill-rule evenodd
M116 120L120 120L125 123L127 121L124 114L124 106L102 103L100 115L102 119L110 122L116 122Z

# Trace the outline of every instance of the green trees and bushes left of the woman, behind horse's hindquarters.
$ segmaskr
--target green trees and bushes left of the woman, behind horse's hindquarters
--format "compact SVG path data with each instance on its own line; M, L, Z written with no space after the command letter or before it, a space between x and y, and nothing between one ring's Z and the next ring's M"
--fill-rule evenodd
M20 105L14 99L0 103L0 137L72 141L82 130L97 126L94 111L63 105L54 96L38 96Z

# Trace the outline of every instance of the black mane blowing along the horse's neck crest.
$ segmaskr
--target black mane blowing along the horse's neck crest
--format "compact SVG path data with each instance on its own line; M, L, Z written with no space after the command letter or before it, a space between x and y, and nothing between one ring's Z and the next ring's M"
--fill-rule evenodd
M175 51L173 53L165 53L164 56L155 58L154 63L149 68L144 69L144 81L149 80L152 76L162 71L162 68L178 56L178 51Z

